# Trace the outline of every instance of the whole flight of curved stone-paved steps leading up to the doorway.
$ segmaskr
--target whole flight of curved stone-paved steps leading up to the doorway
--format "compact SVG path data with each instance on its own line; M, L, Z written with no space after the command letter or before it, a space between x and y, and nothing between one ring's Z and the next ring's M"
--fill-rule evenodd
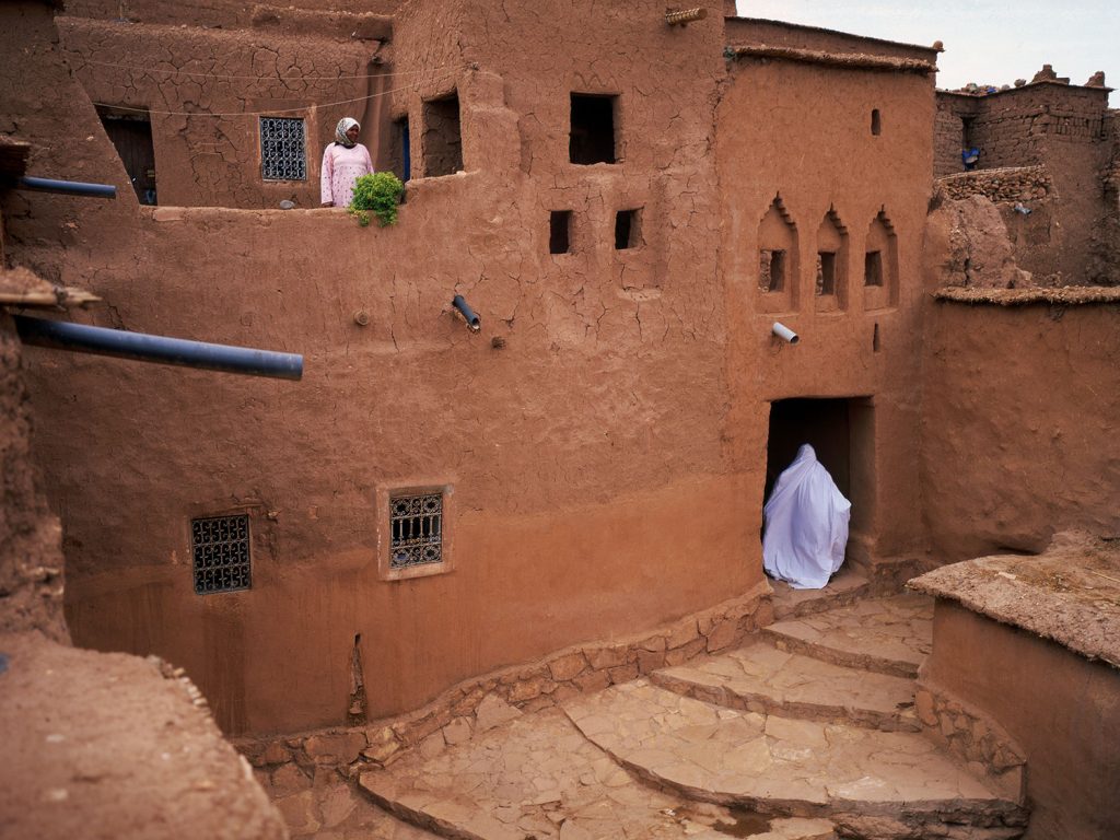
M921 734L932 603L848 572L775 586L750 645L365 773L409 822L467 840L1019 837L1027 814ZM974 769L974 767L973 767Z

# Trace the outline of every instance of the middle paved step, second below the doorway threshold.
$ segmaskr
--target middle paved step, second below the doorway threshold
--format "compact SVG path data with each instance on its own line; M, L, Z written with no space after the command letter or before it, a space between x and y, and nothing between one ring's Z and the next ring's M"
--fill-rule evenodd
M756 643L650 674L654 685L728 709L918 731L914 682Z

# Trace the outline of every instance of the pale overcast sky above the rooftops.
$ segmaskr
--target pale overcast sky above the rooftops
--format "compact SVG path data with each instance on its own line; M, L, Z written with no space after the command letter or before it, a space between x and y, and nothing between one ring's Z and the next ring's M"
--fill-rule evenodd
M738 0L739 15L932 45L937 87L1028 82L1044 64L1072 84L1099 69L1120 88L1120 0ZM1120 106L1120 91L1110 97Z

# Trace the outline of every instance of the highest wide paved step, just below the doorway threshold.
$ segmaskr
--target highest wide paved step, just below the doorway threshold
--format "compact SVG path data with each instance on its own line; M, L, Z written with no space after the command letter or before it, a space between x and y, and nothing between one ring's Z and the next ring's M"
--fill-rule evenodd
M763 636L781 651L892 676L917 676L933 644L933 599L896 595L775 622Z

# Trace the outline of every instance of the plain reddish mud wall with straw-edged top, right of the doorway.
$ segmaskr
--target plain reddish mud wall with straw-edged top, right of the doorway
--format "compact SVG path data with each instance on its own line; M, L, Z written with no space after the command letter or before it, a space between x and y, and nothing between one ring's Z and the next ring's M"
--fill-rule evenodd
M935 302L922 508L941 562L1120 533L1120 307Z

